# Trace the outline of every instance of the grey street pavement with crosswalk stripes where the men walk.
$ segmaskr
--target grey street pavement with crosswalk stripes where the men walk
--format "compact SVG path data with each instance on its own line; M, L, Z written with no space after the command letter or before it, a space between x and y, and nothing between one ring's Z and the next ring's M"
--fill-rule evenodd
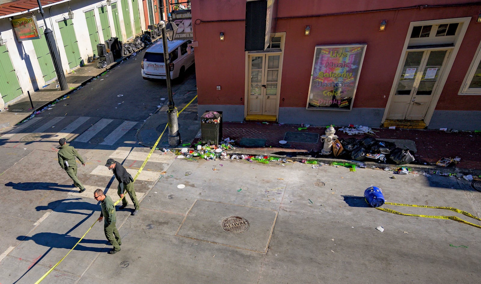
M142 80L140 59L2 136L1 284L35 283L94 223L42 283L479 283L481 229L382 212L363 198L376 185L389 202L479 216L481 193L465 180L299 162L190 161L161 151L135 182L139 214L130 215L131 202L117 207L122 250L107 254L93 191L118 199L105 161L137 173L150 150L139 145L137 130L167 98L165 83ZM86 160L78 170L82 194L58 165L63 136ZM447 210L384 207L481 224Z

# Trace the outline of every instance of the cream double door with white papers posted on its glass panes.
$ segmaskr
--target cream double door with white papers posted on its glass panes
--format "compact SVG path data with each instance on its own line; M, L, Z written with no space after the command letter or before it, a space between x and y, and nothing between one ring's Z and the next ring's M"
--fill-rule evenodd
M408 51L388 119L423 120L450 49Z

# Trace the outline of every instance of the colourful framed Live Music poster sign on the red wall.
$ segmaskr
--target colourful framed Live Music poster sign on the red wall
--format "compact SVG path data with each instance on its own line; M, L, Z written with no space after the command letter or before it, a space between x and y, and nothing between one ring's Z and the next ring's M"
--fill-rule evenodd
M366 46L316 46L306 109L352 109Z

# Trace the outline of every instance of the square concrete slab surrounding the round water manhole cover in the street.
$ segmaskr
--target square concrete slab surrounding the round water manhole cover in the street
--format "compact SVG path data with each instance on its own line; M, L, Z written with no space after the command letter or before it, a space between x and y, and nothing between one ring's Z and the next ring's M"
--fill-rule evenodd
M248 220L249 228L237 234L226 232L222 221L230 216ZM277 211L271 209L197 199L176 235L266 253L276 218Z

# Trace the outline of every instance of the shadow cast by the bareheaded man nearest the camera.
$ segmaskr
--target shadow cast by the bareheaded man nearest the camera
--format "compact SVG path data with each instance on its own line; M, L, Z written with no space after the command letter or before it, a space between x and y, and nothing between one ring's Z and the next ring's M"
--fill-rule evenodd
M25 236L19 235L17 240L20 241L34 241L37 245L50 247L50 248L66 248L71 249L75 246L80 238L74 237L71 235L64 235L64 234L57 234L57 233L37 233L32 236ZM80 244L99 244L99 245L107 245L108 241L106 240L92 240L92 239L82 239ZM81 250L81 251L93 251L93 252L101 252L104 248L103 247L86 247L78 244L74 250ZM108 249L108 248L107 248Z

